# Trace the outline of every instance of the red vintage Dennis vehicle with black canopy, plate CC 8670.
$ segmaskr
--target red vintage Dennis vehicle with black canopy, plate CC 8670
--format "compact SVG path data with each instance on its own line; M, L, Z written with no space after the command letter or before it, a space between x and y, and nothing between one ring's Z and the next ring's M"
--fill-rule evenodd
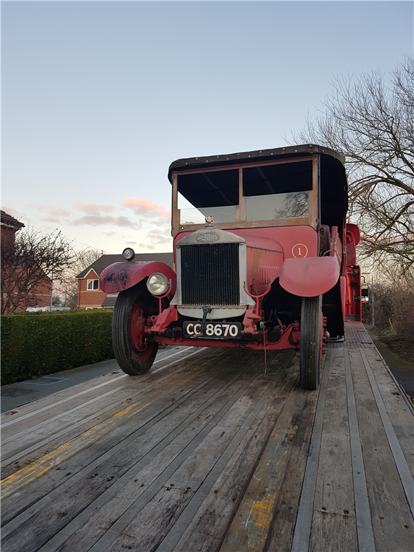
M126 248L101 274L103 291L120 292L119 366L145 373L160 343L295 348L302 386L317 388L326 340L361 319L344 157L313 145L194 157L168 179L175 270Z

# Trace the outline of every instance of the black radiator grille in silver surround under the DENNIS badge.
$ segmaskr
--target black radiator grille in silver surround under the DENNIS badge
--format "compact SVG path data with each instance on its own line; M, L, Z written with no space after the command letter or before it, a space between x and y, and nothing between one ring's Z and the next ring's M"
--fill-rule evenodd
M239 244L181 246L181 304L238 305Z

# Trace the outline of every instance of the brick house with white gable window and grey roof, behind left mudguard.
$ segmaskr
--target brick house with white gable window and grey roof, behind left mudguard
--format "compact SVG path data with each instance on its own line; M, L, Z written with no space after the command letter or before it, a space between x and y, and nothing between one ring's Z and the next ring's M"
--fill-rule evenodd
M99 276L104 268L112 263L124 261L122 255L102 255L85 270L77 275L78 292L77 308L113 308L117 294L107 295L99 286ZM174 265L173 253L137 253L135 262L158 261L168 264L171 268Z

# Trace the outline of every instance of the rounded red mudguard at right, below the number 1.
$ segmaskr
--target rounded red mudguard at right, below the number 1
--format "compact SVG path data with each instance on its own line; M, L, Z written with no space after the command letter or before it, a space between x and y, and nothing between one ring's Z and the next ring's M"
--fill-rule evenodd
M279 268L279 284L299 297L316 297L335 286L339 278L336 257L285 259Z

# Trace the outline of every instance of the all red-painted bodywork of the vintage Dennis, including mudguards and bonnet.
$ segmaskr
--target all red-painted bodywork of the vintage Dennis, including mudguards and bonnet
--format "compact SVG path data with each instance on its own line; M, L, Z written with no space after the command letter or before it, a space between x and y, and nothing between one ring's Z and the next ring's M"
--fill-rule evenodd
M337 228L331 228L329 249L324 256L318 257L318 236L310 226L290 226L272 228L239 228L231 230L236 235L246 239L247 251L247 282L246 289L253 295L266 293L269 284L279 278L279 284L288 293L298 297L315 297L331 290L340 277L340 293L342 299L342 314L352 315L360 319L361 303L355 300L360 282L359 267L349 266L349 261L355 262L355 246L359 243L359 230L355 225L348 225L346 233L346 255L342 263L342 242L339 239ZM175 245L181 238L188 235L183 232L175 238ZM176 250L176 249L175 249ZM341 266L342 265L342 266ZM159 262L121 262L108 266L101 274L101 288L106 293L126 290L141 282L155 272L164 273L171 279L172 288L168 297L175 294L177 277L174 271L166 264ZM357 274L358 272L358 274ZM257 313L262 319L259 302L255 306L248 306L244 317L245 335L252 338L262 334L257 330ZM356 316L355 316L356 315ZM177 308L169 306L152 317L146 325L147 339L164 344L182 344L190 346L246 346L247 348L263 348L260 341L231 341L224 339L189 339L181 334L175 337L165 337L164 331L172 322L179 318ZM299 328L291 324L282 331L278 342L269 342L269 350L283 348L298 348ZM292 335L290 335L292 334ZM294 336L294 337L292 337Z

